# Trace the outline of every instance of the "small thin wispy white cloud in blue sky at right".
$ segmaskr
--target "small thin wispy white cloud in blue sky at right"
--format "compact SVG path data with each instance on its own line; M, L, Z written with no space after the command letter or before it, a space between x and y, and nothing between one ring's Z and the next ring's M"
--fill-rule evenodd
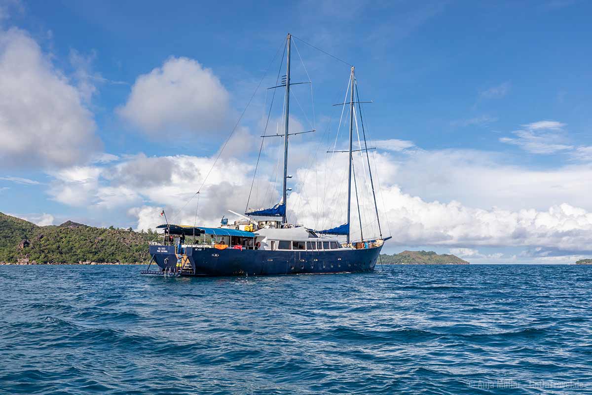
M557 121L533 122L522 125L522 130L513 131L517 138L501 137L500 142L519 146L530 153L550 154L571 150L574 147L565 144L564 126Z

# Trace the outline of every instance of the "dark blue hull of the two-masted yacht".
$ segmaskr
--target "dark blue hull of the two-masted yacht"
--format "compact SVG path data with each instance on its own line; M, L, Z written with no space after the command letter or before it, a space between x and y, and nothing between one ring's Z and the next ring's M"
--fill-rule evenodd
M382 246L331 251L269 251L186 247L182 275L233 276L372 271ZM162 272L178 273L175 246L150 246Z

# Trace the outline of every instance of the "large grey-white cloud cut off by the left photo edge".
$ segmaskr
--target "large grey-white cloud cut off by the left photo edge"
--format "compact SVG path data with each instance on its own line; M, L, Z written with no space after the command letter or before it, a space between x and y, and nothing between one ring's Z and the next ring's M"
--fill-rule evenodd
M0 31L0 162L70 166L101 146L81 92L25 31Z

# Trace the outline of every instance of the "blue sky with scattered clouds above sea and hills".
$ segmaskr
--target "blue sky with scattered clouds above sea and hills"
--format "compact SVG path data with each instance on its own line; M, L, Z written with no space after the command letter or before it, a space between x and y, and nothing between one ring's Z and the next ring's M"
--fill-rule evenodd
M290 140L290 221L345 222L347 157L326 151L347 144L334 104L354 65L384 252L592 257L591 14L575 0L0 0L0 211L153 229L162 210L215 226L278 203L282 139L260 136L282 132L284 92L266 88L291 33L292 82L311 83L292 87L290 131L316 131ZM352 236L377 237L365 156L354 169Z

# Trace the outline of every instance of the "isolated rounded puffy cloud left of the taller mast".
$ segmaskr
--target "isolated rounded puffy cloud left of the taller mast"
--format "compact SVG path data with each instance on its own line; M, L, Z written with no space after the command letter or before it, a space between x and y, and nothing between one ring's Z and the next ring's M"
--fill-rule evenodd
M186 57L170 57L140 75L118 113L146 133L197 133L226 126L229 94L211 69Z

